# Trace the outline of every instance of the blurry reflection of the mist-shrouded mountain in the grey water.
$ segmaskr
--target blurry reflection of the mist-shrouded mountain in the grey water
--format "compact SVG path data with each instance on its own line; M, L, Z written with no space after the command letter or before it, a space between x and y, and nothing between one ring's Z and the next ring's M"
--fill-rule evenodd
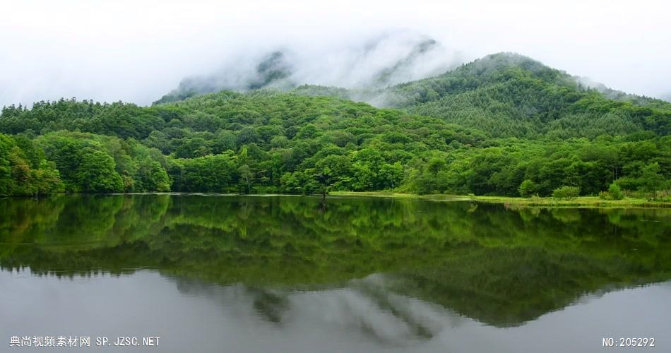
M296 291L229 285L225 287L178 277L183 294L205 297L234 311L232 316L249 316L283 327L295 321L319 323L334 330L355 330L381 345L402 346L412 340L429 340L446 323L462 321L458 315L388 290L388 278L370 275L351 280L343 288Z

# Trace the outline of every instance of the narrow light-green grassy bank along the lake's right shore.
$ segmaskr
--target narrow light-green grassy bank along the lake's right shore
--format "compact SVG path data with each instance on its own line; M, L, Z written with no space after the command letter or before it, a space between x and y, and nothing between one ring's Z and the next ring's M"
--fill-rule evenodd
M624 198L624 200L602 200L597 196L581 196L573 200L554 198L516 198L507 196L463 196L463 195L416 195L386 191L352 192L333 191L331 196L374 196L388 198L421 198L434 201L475 201L478 203L503 203L505 205L528 207L571 207L571 208L671 208L669 202L648 201L644 198Z

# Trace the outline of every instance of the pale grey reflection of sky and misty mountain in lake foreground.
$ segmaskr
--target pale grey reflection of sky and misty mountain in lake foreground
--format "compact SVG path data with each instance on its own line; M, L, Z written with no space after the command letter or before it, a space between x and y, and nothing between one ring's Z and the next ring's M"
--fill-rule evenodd
M72 278L0 270L0 335L155 335L160 352L596 352L610 336L657 337L662 347L671 310L666 282L588 294L524 325L496 328L387 285L384 275L296 290L153 270Z

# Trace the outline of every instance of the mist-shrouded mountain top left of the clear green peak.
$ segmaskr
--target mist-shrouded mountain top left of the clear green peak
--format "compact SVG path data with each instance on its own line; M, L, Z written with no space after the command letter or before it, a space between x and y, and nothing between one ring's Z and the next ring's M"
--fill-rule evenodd
M215 73L184 78L154 104L220 90L287 90L304 84L374 90L434 76L460 62L436 40L408 31L326 49L278 47L239 54Z

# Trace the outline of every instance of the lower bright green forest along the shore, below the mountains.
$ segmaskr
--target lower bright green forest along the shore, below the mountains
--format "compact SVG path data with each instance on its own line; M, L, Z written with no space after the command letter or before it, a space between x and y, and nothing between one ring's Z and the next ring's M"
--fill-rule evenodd
M492 131L293 92L225 91L155 107L38 102L2 111L0 194L551 196L561 186L598 195L617 184L660 196L671 187L671 140L659 131L562 139Z

